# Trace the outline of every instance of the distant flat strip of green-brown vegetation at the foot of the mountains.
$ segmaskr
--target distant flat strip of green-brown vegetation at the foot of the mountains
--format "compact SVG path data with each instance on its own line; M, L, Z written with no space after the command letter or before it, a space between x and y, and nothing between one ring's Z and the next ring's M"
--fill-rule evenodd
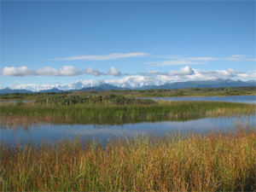
M221 88L185 88L173 90L87 90L66 92L12 93L1 95L1 101L41 100L55 96L125 96L125 97L167 97L167 96L247 96L255 95L256 86L251 87L221 87Z

